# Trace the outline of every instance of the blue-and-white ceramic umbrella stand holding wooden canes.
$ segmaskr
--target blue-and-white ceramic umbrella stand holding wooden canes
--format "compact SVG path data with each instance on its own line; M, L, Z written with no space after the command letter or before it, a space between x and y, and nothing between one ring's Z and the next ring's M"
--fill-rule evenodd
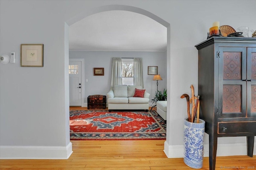
M204 158L204 126L205 121L199 119L200 96L194 96L194 86L190 86L192 97L182 94L186 98L188 117L184 119L184 163L191 168L202 168ZM196 100L196 102L194 101ZM190 115L190 104L192 111ZM196 118L197 115L197 118Z

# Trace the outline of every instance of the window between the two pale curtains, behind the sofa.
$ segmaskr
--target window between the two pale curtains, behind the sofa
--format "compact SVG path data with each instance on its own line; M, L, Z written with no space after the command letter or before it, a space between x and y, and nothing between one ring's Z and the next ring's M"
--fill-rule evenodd
M134 59L122 58L122 83L134 85Z

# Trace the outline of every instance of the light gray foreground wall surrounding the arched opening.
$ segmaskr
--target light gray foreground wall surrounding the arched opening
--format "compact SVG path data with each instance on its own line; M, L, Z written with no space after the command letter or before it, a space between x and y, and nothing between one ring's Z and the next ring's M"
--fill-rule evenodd
M256 1L230 2L1 0L0 55L16 52L16 63L0 64L0 154L10 153L2 152L7 148L13 151L10 156L17 157L17 153L22 153L20 157L24 158L45 152L40 150L42 147L54 151L68 148L68 25L98 12L128 10L144 14L167 27L166 79L169 97L164 148L169 156L183 156L186 104L180 95L191 94L191 84L195 94L198 93L198 51L194 45L206 40L214 21L235 29L244 25L256 29ZM44 67L20 67L22 43L44 44ZM246 148L245 141L245 137L218 140L228 144L242 143L242 147ZM27 156L22 152L28 151L26 148L39 150L29 152ZM226 153L234 150L238 149L227 150ZM242 154L246 154L246 150ZM47 156L56 157L54 154Z

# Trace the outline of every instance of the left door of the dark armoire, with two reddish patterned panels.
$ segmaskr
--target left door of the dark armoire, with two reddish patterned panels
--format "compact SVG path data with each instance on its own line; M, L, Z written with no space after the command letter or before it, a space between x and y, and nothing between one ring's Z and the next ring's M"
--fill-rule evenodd
M246 47L219 51L219 117L246 117Z

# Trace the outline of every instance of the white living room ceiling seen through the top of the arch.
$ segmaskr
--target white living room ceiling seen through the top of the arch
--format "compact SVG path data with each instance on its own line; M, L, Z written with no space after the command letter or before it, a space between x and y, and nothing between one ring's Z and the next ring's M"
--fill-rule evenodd
M134 12L100 12L69 27L70 51L165 51L166 46L166 27Z

